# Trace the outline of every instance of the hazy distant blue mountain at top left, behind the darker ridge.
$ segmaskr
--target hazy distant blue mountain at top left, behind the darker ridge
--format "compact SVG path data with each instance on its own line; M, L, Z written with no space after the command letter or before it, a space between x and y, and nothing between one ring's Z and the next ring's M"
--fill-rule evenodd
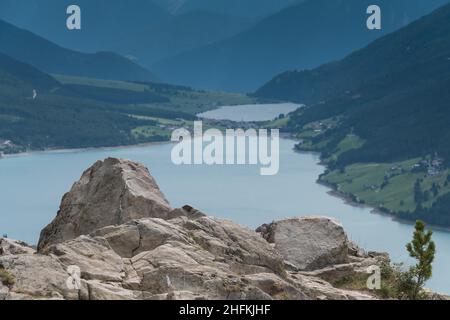
M172 15L149 0L80 0L77 4L81 8L82 29L69 31L65 13L72 3L70 0L2 0L0 19L72 50L113 51L147 67L183 51L231 37L253 23L251 18L206 9Z

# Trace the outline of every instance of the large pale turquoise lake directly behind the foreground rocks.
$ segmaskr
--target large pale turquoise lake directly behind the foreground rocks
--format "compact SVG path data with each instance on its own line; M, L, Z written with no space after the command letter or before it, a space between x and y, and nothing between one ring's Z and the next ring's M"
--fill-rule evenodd
M32 153L0 160L0 235L36 243L56 215L61 197L95 161L120 157L144 163L173 207L190 204L210 215L258 227L272 220L305 215L334 217L351 240L407 262L405 244L413 226L346 204L316 183L324 171L315 154L293 151L280 141L280 170L261 176L259 166L176 166L171 144L117 149ZM450 233L434 231L437 258L427 287L450 293Z

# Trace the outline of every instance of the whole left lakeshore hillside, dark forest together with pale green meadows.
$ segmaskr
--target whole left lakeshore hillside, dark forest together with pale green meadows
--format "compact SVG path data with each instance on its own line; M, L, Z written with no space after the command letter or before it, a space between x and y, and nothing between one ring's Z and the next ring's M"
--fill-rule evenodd
M167 141L196 113L241 101L252 100L166 84L52 77L0 53L0 155Z

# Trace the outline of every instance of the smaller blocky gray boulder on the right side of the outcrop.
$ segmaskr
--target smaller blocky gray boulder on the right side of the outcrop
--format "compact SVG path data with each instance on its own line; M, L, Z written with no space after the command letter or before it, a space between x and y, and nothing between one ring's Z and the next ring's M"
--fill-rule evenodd
M286 265L316 270L348 262L349 241L342 225L326 217L286 219L257 229L275 245Z

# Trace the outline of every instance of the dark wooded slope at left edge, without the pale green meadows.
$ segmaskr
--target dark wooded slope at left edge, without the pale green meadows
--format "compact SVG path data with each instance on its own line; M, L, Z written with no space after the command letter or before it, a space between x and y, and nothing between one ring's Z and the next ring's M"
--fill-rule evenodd
M133 143L130 131L141 121L112 112L111 104L54 94L61 86L0 54L0 140L13 143L1 152Z

